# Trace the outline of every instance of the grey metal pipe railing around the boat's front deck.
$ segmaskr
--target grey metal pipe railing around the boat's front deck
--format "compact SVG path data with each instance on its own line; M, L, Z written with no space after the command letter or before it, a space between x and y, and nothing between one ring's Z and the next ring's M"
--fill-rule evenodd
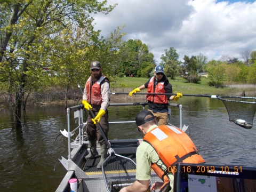
M145 110L145 106L148 105L147 102L133 102L133 103L110 103L109 106L142 106L143 110ZM176 107L180 109L180 129L182 129L182 105L180 104L175 104L175 103L168 103L168 106L171 107ZM76 142L78 145L82 145L84 142L84 132L83 129L87 125L87 123L84 123L83 119L83 109L84 105L77 105L73 107L67 108L67 123L68 123L68 131L64 130L61 131L65 137L68 138L68 159L71 159L71 136L74 135L75 131L79 130L78 132L78 137L76 138ZM76 121L78 121L78 126L71 131L70 130L70 113L74 111L74 118L76 118ZM169 117L171 115L171 109L169 108ZM135 123L135 121L122 121L122 122L109 122L109 124L114 124L114 123ZM168 123L169 125L172 125ZM172 125L174 126L174 125Z

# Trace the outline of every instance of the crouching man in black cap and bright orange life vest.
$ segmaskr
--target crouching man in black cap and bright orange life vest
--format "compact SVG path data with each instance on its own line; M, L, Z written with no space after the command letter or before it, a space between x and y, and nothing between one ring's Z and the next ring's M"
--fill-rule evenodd
M150 190L173 191L175 163L205 163L188 135L174 126L157 126L154 115L142 110L135 118L144 135L136 151L136 179L120 191L148 191L151 169L163 182L155 182ZM177 171L177 170L176 170Z

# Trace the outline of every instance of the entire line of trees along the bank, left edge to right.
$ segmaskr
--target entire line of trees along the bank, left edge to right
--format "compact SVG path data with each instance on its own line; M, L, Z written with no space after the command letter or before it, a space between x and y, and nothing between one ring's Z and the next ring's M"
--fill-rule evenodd
M106 6L106 1L3 0L0 3L0 94L4 105L15 108L15 122L21 121L21 110L26 110L32 93L39 98L35 93L64 90L67 106L68 94L77 89L77 84L84 86L89 78L93 60L101 62L102 72L110 81L115 81L116 76L153 75L156 61L149 45L139 39L123 41L124 26L117 27L107 37L100 37L100 31L94 30L91 15L108 14L115 6ZM241 68L239 75L243 73L232 81L244 77L246 82L254 81L249 78L251 71L255 71L254 58L248 59L246 65L241 61L231 64ZM190 58L185 55L184 62L178 59L173 47L164 50L161 65L166 75L174 79L185 74L191 83L198 82L197 73L204 70L211 74L214 84L213 69L217 67L210 66L223 65L220 61L207 62L202 54Z

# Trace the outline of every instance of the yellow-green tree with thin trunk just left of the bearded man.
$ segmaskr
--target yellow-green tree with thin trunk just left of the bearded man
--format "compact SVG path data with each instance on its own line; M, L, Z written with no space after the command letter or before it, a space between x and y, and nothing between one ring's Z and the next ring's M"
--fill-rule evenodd
M91 31L88 36L86 28L66 28L51 39L51 49L49 49L49 60L51 65L51 85L57 85L65 89L65 103L68 107L68 91L77 84L84 85L90 76L91 49L90 40L99 35ZM77 89L77 88L76 88Z

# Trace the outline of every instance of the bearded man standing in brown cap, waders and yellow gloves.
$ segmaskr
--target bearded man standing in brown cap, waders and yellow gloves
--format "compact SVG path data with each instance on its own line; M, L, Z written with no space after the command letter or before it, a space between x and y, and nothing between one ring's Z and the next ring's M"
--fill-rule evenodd
M101 125L102 131L108 137L109 123L108 110L109 106L109 79L102 75L101 65L99 61L91 62L91 76L86 82L83 94L83 105L87 110L92 109L95 118L93 119L91 113L87 118L87 137L90 145L90 153L85 156L86 161L98 156L97 140L100 143L100 162L97 165L101 169L102 163L107 157L107 145L103 139L99 127L96 126L96 121Z

